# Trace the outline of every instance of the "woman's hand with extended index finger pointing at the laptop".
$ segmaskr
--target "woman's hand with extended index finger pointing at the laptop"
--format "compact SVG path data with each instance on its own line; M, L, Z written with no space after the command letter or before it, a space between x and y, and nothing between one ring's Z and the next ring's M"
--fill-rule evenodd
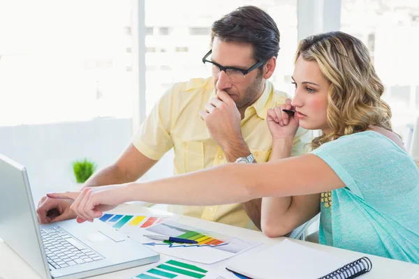
M53 199L73 199L71 210L77 214L78 223L92 222L100 218L103 211L114 209L119 204L128 202L127 184L87 187L79 192L50 193Z

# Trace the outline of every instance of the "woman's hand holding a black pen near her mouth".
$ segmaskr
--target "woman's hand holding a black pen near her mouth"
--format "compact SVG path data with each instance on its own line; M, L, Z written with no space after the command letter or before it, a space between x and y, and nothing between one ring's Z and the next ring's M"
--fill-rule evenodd
M298 129L298 119L290 116L282 110L294 110L291 106L291 99L286 99L281 106L267 110L267 126L275 140L293 140Z

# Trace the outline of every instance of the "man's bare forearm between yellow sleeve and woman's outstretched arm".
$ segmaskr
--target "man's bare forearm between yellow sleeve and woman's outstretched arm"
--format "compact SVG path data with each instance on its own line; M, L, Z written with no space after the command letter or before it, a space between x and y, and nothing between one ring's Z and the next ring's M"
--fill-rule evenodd
M129 144L115 163L87 179L82 188L136 181L156 163Z

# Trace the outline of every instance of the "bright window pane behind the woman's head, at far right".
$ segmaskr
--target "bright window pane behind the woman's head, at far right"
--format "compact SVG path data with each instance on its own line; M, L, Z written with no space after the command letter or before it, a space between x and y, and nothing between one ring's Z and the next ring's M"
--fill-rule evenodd
M418 107L419 8L409 0L342 0L341 30L362 40L385 84L395 131L409 141Z

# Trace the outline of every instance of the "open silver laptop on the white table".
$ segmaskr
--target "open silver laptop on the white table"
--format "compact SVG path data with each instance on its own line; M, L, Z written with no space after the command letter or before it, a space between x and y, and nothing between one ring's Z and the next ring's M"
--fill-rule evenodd
M100 220L39 225L27 171L0 154L0 238L42 278L86 278L160 256Z

